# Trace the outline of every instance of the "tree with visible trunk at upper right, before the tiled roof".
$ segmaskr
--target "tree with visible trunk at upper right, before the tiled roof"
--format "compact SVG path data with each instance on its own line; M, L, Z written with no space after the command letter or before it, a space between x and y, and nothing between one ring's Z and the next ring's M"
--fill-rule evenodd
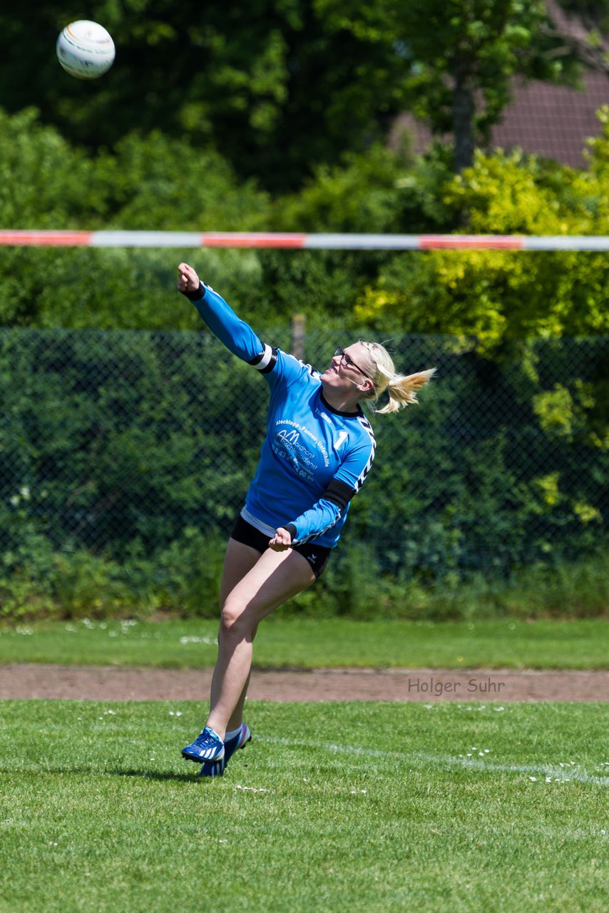
M329 25L402 59L406 105L454 138L455 170L471 165L509 101L516 74L572 78L576 57L548 29L545 0L317 0ZM552 47L551 58L545 52Z

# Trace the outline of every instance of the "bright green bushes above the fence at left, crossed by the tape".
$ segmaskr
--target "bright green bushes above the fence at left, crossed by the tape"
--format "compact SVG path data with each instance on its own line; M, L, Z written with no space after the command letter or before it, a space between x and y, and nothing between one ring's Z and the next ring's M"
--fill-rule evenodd
M14 228L261 230L268 197L237 183L217 152L159 133L126 136L113 154L74 149L34 110L0 110L0 225ZM175 264L191 251L0 247L0 324L189 327L194 309L168 306ZM254 252L198 251L203 275L248 297ZM171 300L171 299L170 299Z

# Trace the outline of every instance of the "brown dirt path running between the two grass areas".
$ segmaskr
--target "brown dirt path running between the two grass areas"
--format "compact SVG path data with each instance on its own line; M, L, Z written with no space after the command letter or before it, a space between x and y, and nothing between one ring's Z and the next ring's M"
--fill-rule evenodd
M0 698L202 700L210 669L0 666ZM252 700L609 700L609 672L508 669L255 669Z

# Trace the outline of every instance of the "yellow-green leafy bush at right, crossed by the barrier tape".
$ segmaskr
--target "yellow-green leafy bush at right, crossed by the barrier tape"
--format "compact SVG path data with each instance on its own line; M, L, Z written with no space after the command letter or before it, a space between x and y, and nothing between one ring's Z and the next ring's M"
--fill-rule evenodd
M609 109L591 142L590 169L520 153L476 153L441 191L475 234L604 235L609 226ZM474 337L497 350L523 338L609 333L602 253L430 251L392 257L366 289L360 320L405 331Z

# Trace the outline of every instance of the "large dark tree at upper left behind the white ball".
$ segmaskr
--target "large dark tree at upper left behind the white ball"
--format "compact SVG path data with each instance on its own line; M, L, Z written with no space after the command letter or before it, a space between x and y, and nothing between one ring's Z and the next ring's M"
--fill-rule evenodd
M93 0L87 17L109 29L117 56L90 82L55 58L60 28L76 17L51 0L0 11L0 106L34 105L89 148L158 129L284 190L382 136L399 110L401 61L351 31L329 32L310 0Z

